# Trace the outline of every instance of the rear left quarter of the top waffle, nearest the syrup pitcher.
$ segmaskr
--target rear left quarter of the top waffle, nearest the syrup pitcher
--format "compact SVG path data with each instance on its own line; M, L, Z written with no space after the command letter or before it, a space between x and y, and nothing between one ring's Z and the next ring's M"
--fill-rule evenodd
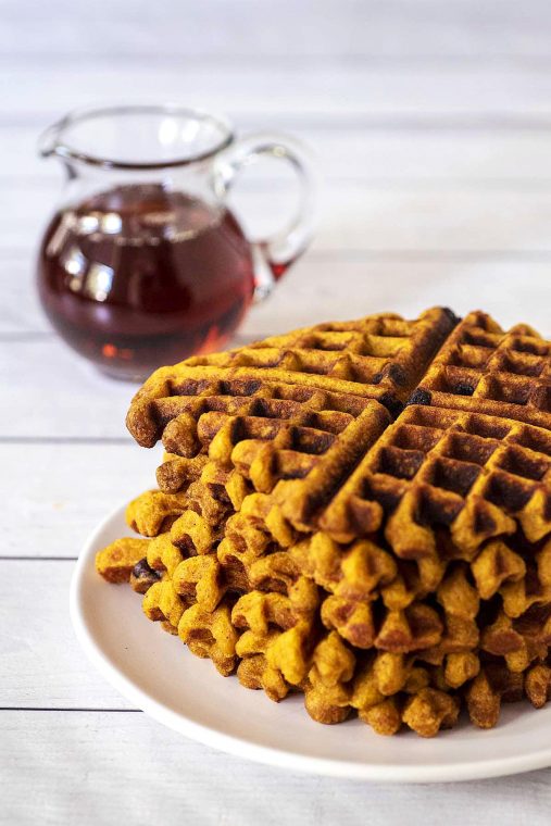
M304 405L320 413L351 408L358 415L361 399L375 399L396 411L455 323L438 308L416 321L374 315L193 356L153 373L133 399L127 426L143 447L162 437L170 452L192 456L210 445L224 416L237 417L240 427L243 418L260 418L251 424L254 438L261 425L277 429L278 420L300 418ZM335 416L326 418L330 424Z

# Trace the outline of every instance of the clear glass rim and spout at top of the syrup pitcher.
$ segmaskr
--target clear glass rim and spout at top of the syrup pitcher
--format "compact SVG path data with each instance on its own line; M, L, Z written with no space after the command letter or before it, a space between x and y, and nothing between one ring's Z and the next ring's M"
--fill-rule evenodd
M102 158L71 147L70 141L63 140L63 132L75 123L92 120L93 117L103 117L105 115L120 114L166 114L166 115L187 115L202 121L211 121L221 127L224 133L221 140L211 149L200 152L190 158L173 158L166 161L121 161L116 159ZM206 110L185 107L179 103L122 103L108 104L102 107L86 107L74 109L64 117L60 118L42 132L38 139L38 153L41 158L57 155L64 160L79 161L92 166L99 166L105 170L136 170L136 171L154 171L166 170L176 166L188 166L200 161L212 158L217 152L226 149L235 138L234 130L229 121L223 115L215 115Z

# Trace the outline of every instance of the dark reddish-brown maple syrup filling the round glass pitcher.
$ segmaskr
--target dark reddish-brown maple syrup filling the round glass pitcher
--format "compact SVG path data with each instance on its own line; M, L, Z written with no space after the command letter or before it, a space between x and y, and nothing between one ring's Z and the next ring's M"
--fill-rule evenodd
M79 353L121 378L221 349L254 290L251 247L221 204L160 184L61 210L38 261L42 305Z

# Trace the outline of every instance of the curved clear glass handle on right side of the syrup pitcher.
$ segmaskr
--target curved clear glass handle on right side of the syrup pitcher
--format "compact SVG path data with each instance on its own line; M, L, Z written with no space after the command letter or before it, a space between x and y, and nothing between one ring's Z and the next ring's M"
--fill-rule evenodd
M318 173L310 152L295 138L271 133L246 135L222 151L213 164L214 189L225 198L237 175L263 157L288 161L299 178L297 213L278 233L251 243L253 251L254 300L261 301L273 290L288 267L304 252L314 234Z

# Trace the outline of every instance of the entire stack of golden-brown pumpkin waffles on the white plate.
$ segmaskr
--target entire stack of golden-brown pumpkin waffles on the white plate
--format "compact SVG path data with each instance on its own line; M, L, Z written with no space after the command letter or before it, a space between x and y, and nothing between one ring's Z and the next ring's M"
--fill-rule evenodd
M156 371L141 538L99 552L218 672L430 737L551 693L551 342L434 309Z

